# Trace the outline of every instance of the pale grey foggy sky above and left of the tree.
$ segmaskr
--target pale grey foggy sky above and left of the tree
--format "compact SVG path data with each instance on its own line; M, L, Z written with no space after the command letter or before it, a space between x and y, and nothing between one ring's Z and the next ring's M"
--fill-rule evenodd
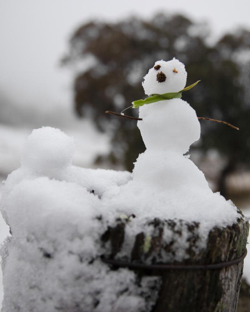
M228 1L0 1L0 92L19 105L71 101L72 77L59 68L67 40L80 23L93 18L117 20L130 14L181 12L211 25L213 37L239 26L250 29L247 0ZM237 7L236 7L237 4Z

